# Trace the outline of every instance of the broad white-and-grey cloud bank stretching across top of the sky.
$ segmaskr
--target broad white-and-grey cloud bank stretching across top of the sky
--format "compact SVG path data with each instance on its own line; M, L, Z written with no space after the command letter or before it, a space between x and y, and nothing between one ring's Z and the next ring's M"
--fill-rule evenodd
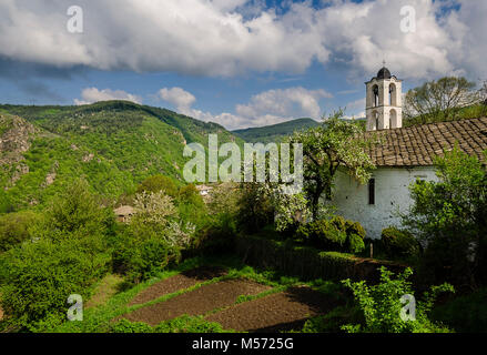
M235 75L346 64L357 77L386 59L405 78L486 74L485 1L80 0L84 33L65 29L67 0L0 3L0 55L58 67ZM445 10L445 4L460 4ZM403 33L400 9L416 10ZM351 73L353 77L354 73Z

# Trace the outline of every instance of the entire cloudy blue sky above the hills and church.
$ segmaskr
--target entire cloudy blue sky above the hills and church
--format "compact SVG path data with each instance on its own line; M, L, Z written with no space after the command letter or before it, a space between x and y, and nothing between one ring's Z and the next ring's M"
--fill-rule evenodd
M130 100L226 129L365 115L383 61L404 91L487 79L484 0L0 0L0 103Z

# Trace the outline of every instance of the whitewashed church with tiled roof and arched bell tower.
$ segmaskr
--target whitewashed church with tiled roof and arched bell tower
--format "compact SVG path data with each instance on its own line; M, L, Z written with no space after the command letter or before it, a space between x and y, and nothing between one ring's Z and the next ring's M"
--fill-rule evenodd
M403 128L402 80L381 69L366 82L367 134L377 132L382 143L371 149L376 165L367 185L338 172L331 201L337 213L358 221L367 236L379 239L382 230L400 227L398 212L412 205L409 185L417 179L436 181L436 155L460 150L483 159L487 150L487 118Z

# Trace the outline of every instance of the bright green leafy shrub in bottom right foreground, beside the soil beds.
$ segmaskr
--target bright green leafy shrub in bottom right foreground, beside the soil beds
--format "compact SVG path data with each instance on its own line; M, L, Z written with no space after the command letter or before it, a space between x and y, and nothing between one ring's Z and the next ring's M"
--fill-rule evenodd
M352 283L351 280L343 284L352 290L355 300L363 313L364 323L345 325L342 328L349 333L444 333L447 328L432 323L427 318L437 295L442 292L454 292L452 285L433 286L425 293L424 301L415 304L413 318L402 316L405 304L402 297L414 296L410 282L407 278L413 274L406 268L403 274L394 278L394 273L381 267L381 283L368 286L365 281ZM410 316L410 314L409 314Z

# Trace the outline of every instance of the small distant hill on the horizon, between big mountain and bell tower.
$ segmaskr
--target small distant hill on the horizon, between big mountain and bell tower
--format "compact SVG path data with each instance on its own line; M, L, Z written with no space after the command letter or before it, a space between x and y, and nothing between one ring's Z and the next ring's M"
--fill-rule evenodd
M318 122L312 119L297 119L274 125L236 130L232 131L232 133L248 143L270 143L278 142L295 131L306 130L318 124Z

